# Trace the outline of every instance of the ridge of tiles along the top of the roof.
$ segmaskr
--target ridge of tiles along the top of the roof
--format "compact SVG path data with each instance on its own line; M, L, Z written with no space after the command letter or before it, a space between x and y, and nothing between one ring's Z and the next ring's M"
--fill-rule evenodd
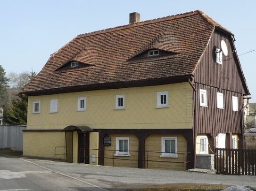
M121 26L116 26L116 27L111 27L111 28L102 29L102 30L98 30L98 31L92 31L92 32L87 32L87 33L79 34L75 38L82 37L82 36L85 36L85 35L97 35L97 34L101 34L101 32L111 32L111 31L114 31L114 30L117 30L117 29L122 30L122 29L125 29L128 26L135 27L135 26L142 25L142 24L143 25L151 24L152 22L155 22L157 20L159 20L158 22L163 22L163 21L166 21L166 20L183 18L183 17L186 17L186 16L190 16L189 14L196 15L196 14L201 14L201 12L200 12L200 10L195 10L195 11L189 11L189 12L180 13L180 14L176 14L176 15L169 15L169 16L164 16L164 17L158 17L158 18L155 18L155 19L141 21L141 22L138 22L138 23L125 24L125 25L121 25ZM178 16L180 16L180 17L178 17Z

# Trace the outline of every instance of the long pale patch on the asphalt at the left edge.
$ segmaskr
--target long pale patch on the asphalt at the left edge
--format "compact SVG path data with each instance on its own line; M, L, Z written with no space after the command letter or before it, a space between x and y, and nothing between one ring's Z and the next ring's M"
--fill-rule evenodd
M14 179L14 178L25 178L26 174L38 174L38 173L51 173L49 170L44 171L18 171L12 172L10 170L0 170L0 180Z

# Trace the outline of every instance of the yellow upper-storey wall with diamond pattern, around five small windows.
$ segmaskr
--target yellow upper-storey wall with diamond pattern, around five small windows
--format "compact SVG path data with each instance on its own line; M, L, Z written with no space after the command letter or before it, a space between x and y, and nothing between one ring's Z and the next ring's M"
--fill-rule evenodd
M169 92L169 107L157 108L157 92ZM116 110L116 95L125 95L125 110ZM77 98L87 98L87 110L77 111ZM58 99L58 113L49 113ZM41 102L33 114L33 101ZM64 129L87 125L93 129L190 129L192 88L189 83L29 96L27 129Z

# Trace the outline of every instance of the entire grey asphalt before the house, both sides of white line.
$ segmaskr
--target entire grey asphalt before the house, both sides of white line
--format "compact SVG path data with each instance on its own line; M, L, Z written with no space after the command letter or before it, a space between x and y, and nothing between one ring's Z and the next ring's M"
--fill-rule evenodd
M256 188L255 176L210 175L170 170L118 168L49 160L0 158L0 191L124 190L172 183L243 185ZM22 191L22 190L19 190Z

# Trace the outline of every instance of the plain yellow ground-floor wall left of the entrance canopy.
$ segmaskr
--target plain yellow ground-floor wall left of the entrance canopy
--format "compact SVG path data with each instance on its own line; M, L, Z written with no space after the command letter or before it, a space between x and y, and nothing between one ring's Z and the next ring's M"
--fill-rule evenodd
M54 158L54 148L66 146L64 132L23 132L23 155ZM66 148L57 148L56 153L66 153ZM66 160L66 155L56 155Z

